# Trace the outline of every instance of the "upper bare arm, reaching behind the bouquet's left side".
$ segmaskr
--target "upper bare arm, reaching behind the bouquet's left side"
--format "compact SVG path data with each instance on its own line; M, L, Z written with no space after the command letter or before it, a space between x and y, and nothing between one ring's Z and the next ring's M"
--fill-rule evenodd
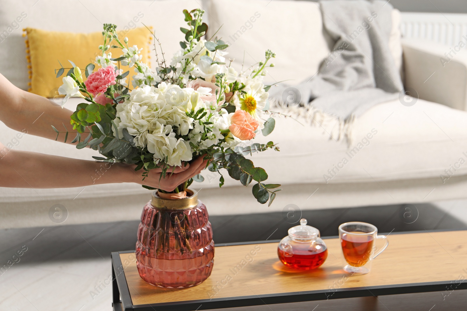
M0 74L0 121L16 131L26 129L28 134L55 140L58 131L66 129L73 133L70 116L73 112L57 107L45 97L26 92L14 86ZM70 141L74 135L69 136ZM60 133L58 141L64 141L65 134Z

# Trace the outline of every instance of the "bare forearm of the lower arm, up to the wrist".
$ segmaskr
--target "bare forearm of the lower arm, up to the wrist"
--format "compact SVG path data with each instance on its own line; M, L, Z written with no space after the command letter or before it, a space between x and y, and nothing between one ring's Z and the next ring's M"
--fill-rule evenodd
M122 163L110 164L48 154L0 151L0 187L64 188L137 182L141 176Z

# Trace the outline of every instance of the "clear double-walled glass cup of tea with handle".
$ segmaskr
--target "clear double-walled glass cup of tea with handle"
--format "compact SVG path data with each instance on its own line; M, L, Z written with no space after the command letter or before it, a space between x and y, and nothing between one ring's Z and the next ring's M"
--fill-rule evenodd
M353 221L339 226L340 245L347 261L344 270L349 273L370 272L371 262L385 250L389 241L385 235L378 235L378 229L369 223ZM375 241L384 239L386 244L378 249Z

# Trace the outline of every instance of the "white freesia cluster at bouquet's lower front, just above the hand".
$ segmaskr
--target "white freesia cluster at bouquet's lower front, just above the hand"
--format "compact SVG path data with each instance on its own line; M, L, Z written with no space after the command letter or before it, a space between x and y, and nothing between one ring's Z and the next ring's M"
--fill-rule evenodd
M190 144L183 138L176 138L170 125L155 124L152 133L146 135L148 151L154 153L154 161L166 160L170 166L181 166L182 161L190 161L192 152Z

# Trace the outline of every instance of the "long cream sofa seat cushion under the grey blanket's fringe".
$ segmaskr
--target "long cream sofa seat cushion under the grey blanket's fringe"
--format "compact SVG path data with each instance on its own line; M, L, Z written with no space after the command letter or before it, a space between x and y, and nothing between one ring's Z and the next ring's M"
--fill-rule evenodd
M70 98L66 108L74 109L80 100ZM285 111L284 113L287 113ZM442 187L450 176L467 174L467 112L419 99L407 107L399 101L377 105L355 119L353 142L329 139L329 127L311 126L309 121L280 117L276 129L258 142L274 141L280 152L254 154L255 166L266 169L268 181L280 184L353 183L387 180L439 178ZM16 150L56 154L92 160L96 151L77 150L73 145L46 138L23 135L0 123L0 141ZM465 152L465 153L463 153ZM448 170L450 173L446 173ZM204 171L205 181L193 188L219 187L217 173ZM226 175L224 187L240 182ZM90 177L91 179L91 177ZM249 190L246 190L249 191ZM62 189L0 188L0 202L109 197L147 194L136 184L107 184Z

